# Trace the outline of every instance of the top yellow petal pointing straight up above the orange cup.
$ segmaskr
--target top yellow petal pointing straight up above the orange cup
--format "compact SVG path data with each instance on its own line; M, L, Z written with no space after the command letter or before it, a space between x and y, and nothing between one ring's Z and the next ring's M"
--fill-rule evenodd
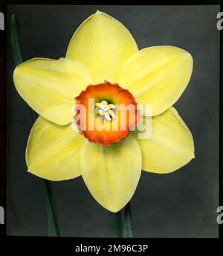
M117 82L124 61L136 51L129 31L116 19L97 11L77 28L66 57L87 66L94 84L98 84L104 80Z

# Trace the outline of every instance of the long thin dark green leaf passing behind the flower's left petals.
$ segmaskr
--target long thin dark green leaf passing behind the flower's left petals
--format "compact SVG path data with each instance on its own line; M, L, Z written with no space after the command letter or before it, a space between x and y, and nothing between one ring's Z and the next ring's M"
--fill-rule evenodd
M19 25L16 18L16 15L13 14L11 19L11 44L13 49L13 57L15 61L15 65L18 66L23 62L23 54L22 54L22 43L19 36ZM37 119L37 114L30 108L33 122ZM50 181L45 181L45 192L46 192L46 207L48 214L48 235L49 237L59 237L59 227L56 219L55 205L54 205L54 193L51 187Z

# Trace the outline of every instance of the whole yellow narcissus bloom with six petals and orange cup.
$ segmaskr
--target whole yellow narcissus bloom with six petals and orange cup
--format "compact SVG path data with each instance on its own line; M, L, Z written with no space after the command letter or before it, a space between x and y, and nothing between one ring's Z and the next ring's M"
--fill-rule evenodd
M13 73L20 96L39 113L26 149L28 172L51 181L82 175L94 199L117 212L135 193L142 169L173 172L194 157L190 130L172 107L192 69L187 51L173 46L138 50L120 22L97 11L77 28L65 58L34 58ZM120 121L117 104L151 104L151 137L139 139L138 131L129 131L148 118L138 111L126 130L118 125L117 131L92 131L88 121L84 129L76 119L77 104L88 107L88 99L94 99L96 110L85 115L100 116L109 125Z

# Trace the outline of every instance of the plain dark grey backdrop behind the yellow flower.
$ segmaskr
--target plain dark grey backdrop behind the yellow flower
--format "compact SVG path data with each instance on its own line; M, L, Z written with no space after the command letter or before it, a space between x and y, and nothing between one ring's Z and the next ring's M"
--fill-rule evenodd
M194 60L190 84L175 107L195 141L195 160L169 175L143 172L132 198L135 237L217 237L219 202L219 6L11 5L19 19L24 60L65 56L75 29L97 9L123 22L140 49L172 45ZM8 27L9 28L9 27ZM30 110L13 87L8 37L7 234L47 235L43 181L26 173ZM106 237L107 211L82 178L54 182L62 236Z

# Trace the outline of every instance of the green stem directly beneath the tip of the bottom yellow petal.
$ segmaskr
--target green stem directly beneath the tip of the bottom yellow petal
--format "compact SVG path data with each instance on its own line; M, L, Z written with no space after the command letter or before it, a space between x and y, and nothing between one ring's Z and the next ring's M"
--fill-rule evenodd
M122 237L121 211L117 213L108 212L109 237Z

